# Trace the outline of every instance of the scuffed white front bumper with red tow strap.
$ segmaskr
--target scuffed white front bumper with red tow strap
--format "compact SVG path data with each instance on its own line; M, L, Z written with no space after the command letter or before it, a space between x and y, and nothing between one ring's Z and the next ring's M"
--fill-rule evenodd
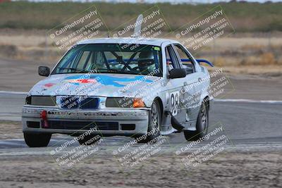
M42 111L47 111L47 126L40 118ZM37 123L39 127L30 127L28 124L30 122ZM25 105L22 123L23 132L30 133L61 133L76 136L94 127L92 134L138 136L147 133L149 108L104 108L85 111ZM135 125L134 130L125 129L128 125L131 127Z

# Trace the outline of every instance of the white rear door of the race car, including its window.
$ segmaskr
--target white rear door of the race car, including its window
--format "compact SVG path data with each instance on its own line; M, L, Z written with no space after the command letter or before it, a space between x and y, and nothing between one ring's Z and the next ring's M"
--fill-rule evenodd
M185 121L197 120L199 111L200 96L202 88L199 85L199 75L196 62L186 49L180 44L173 44L173 49L177 51L180 68L185 68L186 77L183 82L185 88L185 99L183 99L183 108L185 108Z

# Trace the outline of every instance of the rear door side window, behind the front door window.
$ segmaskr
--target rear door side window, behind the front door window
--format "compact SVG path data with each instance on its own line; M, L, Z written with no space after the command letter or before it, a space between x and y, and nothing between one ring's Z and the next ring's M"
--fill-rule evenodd
M185 51L185 49L183 49L183 46L180 46L178 44L175 44L174 46L181 60L180 63L182 63L182 67L185 68L186 73L195 73L194 61L190 57L190 55Z

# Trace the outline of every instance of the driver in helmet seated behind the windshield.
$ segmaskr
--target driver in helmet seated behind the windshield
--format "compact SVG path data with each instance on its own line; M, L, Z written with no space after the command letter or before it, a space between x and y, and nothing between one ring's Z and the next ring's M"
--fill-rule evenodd
M142 51L138 56L138 68L142 75L147 75L151 73L154 66L154 54L152 51Z

